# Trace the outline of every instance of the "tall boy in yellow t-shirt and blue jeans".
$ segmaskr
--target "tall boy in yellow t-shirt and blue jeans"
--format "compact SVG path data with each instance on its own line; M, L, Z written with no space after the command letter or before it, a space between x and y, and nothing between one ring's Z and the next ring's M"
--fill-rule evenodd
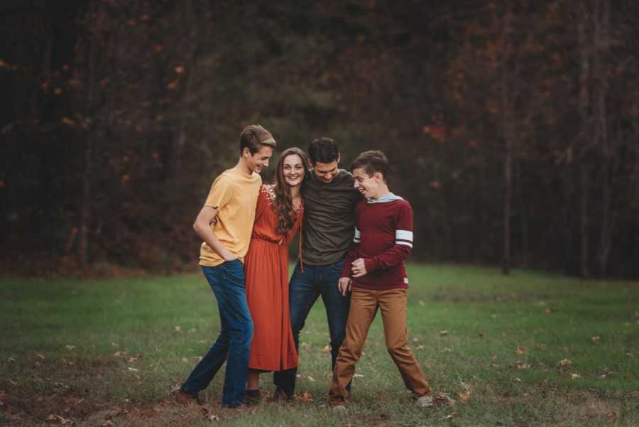
M193 225L204 240L200 266L217 299L221 329L175 395L181 404L198 403L197 394L209 385L224 360L228 362L222 406L234 408L244 401L253 322L244 293L242 261L249 250L262 183L259 172L268 166L275 145L271 133L262 126L246 126L240 135L237 165L214 180Z

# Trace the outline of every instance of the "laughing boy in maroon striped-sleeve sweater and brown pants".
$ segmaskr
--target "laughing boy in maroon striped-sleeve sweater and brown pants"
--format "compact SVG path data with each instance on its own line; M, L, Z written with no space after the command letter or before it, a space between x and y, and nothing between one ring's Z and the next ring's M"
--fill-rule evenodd
M379 308L386 348L404 384L413 391L419 406L432 406L430 387L408 347L406 328L408 277L404 260L413 248L413 209L388 190L388 160L381 151L361 153L351 172L355 188L366 200L355 208L355 244L346 255L338 283L342 294L351 291L351 309L333 370L329 403L337 408L346 404L346 385Z

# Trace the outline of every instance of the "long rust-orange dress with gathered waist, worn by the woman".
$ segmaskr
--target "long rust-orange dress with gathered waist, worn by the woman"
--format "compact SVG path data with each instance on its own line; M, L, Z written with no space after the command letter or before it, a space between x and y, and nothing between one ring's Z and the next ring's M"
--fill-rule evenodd
M246 300L253 319L249 368L281 371L297 367L297 351L288 308L288 244L302 224L304 206L288 236L277 232L273 185L258 196L249 252L244 259Z

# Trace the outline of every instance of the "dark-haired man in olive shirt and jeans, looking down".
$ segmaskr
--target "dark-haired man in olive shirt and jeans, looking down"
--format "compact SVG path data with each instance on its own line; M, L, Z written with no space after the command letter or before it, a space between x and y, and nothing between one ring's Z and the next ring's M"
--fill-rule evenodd
M344 341L349 316L349 296L337 288L344 256L355 230L355 205L361 200L351 173L338 168L339 149L332 139L319 138L308 147L312 170L302 185L304 223L302 259L289 283L290 323L295 346L317 298L322 296L331 338L332 367ZM290 399L295 393L297 368L275 372L276 396Z

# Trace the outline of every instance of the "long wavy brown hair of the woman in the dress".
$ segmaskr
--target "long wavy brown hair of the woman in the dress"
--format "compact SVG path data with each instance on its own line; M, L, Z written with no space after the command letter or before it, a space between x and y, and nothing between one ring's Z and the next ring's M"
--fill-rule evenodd
M306 179L308 174L308 157L302 149L297 147L287 148L280 154L278 160L278 170L275 173L275 204L273 209L278 214L278 234L286 236L290 229L293 228L295 220L297 220L297 214L293 207L293 195L290 193L290 185L286 183L284 178L284 159L288 156L295 155L300 156L302 160L302 166L304 166L303 180Z

